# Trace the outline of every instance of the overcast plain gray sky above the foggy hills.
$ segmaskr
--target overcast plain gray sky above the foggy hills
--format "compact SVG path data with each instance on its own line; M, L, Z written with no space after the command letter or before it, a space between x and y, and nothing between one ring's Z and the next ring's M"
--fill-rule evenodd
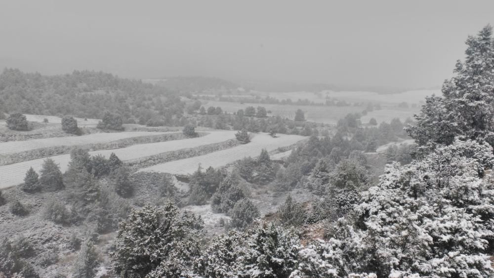
M0 67L434 86L494 1L2 0Z

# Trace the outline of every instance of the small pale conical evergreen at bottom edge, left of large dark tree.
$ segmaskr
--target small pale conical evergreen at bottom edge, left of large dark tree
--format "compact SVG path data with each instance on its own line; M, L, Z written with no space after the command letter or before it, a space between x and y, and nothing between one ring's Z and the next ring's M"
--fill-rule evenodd
M93 277L96 274L96 267L98 267L98 265L98 254L94 249L94 245L90 240L86 240L86 242L82 246L81 251L77 255L76 262L74 263L74 271L72 273L72 277Z

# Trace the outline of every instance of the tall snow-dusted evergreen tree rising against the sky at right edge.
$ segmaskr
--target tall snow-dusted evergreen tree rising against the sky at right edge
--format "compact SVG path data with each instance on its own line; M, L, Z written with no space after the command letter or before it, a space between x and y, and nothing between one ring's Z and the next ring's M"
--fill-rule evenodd
M456 74L446 80L442 97L426 98L416 124L407 132L415 142L432 149L452 144L454 136L487 141L494 145L494 42L492 27L484 27L466 40L466 57L458 61Z

